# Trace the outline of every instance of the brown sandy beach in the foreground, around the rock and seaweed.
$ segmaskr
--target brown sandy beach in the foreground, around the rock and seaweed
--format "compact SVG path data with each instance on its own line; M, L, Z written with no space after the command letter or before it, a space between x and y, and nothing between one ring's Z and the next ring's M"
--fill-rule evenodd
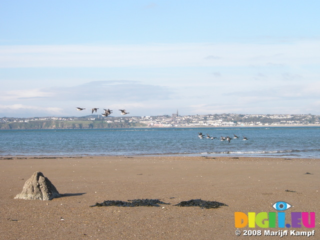
M14 199L24 182L41 171L63 197ZM306 172L313 174L304 174ZM314 211L320 239L320 159L181 156L0 158L1 239L278 239L236 236L234 212ZM286 191L289 190L289 191ZM294 192L293 192L294 191ZM170 205L89 207L104 200L161 199ZM174 206L201 198L228 206ZM268 228L277 231L290 228ZM291 228L293 229L293 228ZM307 239L284 236L284 239ZM309 239L308 238L308 239Z

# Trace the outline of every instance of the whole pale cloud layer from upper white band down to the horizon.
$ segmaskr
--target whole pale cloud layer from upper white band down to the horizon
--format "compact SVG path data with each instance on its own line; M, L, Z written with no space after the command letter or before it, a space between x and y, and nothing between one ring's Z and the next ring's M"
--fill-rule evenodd
M72 115L76 106L130 112L133 108L137 115L170 113L176 108L185 114L281 109L315 113L317 106L309 109L320 94L319 46L317 39L270 44L0 46L0 68L8 68L6 82L11 82L12 72L19 82L31 82L33 75L41 80L44 75L41 84L33 82L36 87L30 89L6 84L0 100L6 105L37 105L43 111L46 106L63 108L64 115ZM20 73L11 67L25 68ZM51 67L55 76L45 79L47 68L41 67ZM29 74L25 79L23 72ZM54 77L61 79L61 75L67 86L62 80L54 85ZM17 111L20 114L23 108Z

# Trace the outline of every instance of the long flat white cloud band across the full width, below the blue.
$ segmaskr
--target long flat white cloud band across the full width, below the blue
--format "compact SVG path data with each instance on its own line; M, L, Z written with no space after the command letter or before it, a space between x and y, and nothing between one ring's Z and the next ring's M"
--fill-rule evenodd
M279 66L320 63L319 51L317 39L269 44L2 45L0 67Z

